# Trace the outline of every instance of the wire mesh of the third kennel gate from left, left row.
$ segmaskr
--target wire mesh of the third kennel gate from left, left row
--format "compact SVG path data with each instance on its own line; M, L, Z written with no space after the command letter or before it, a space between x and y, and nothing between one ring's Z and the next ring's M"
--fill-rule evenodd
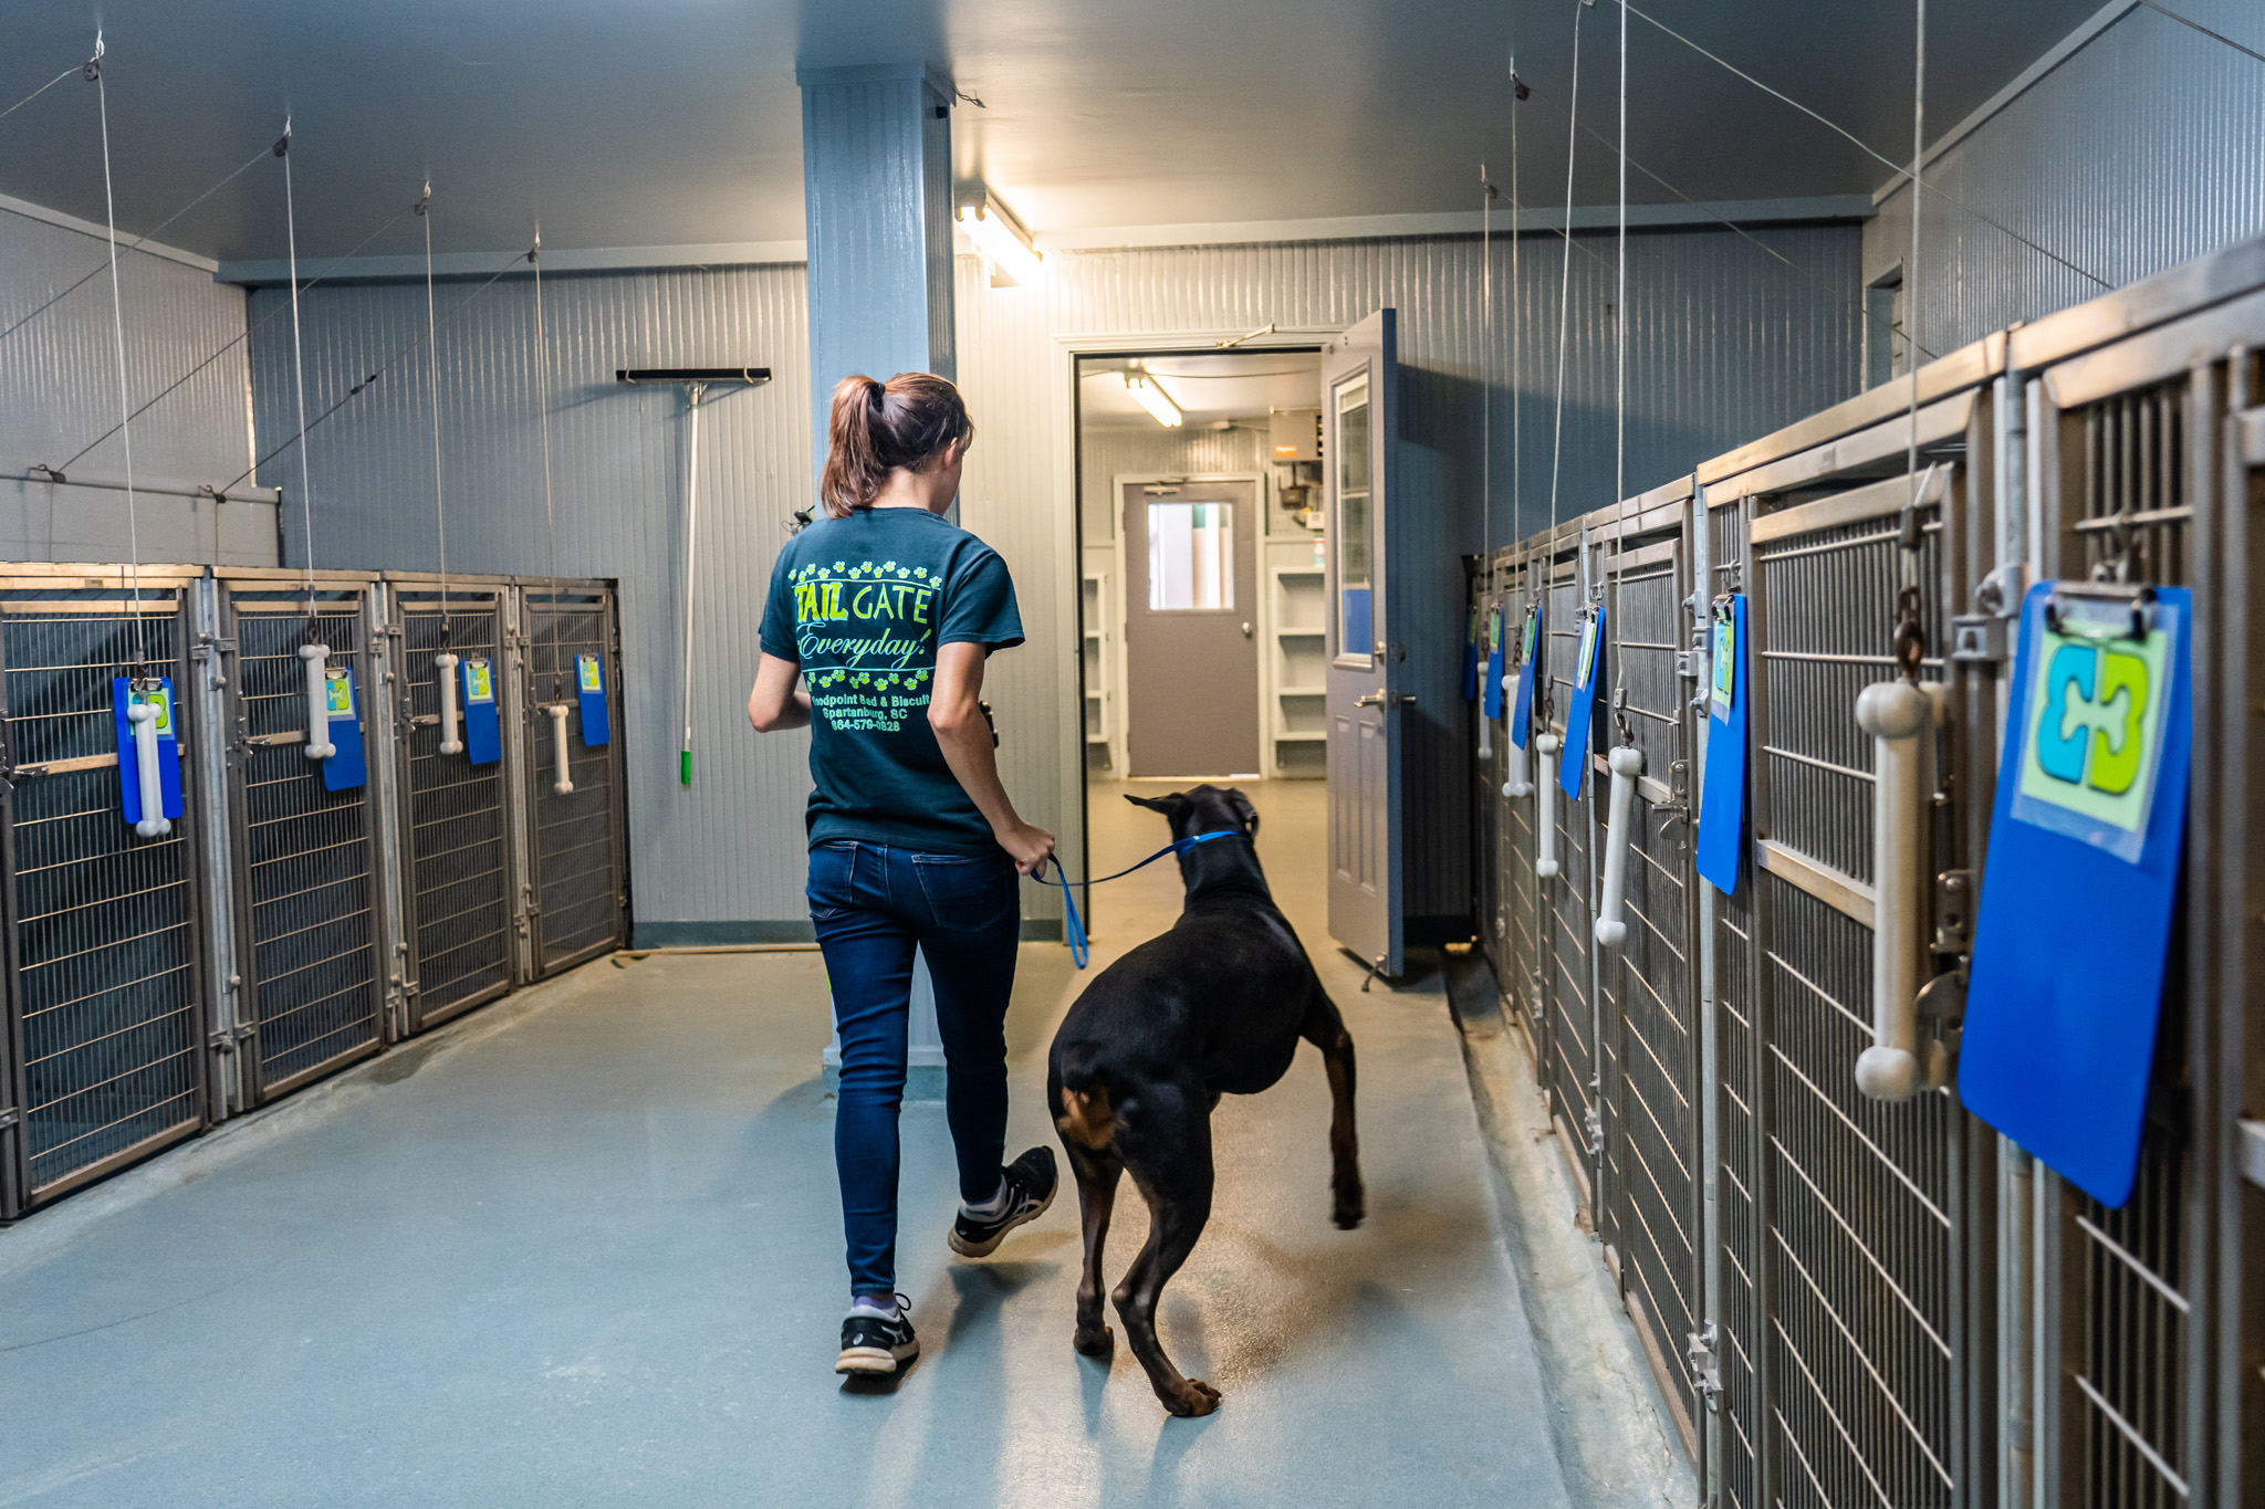
M501 708L505 593L453 584L444 604L437 584L394 581L390 597L405 719L401 842L414 971L408 1025L421 1032L512 989L510 760L473 765L469 747L442 753L439 726L444 674L458 681L458 717L471 717L462 697L467 661L487 661ZM435 663L444 652L460 661L446 672ZM453 731L458 742L464 722Z

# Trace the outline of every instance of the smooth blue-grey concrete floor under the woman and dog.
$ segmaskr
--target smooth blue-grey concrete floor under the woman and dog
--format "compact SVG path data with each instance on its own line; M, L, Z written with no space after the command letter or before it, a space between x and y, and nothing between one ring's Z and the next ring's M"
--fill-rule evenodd
M1096 866L1169 837L1121 790L1094 792ZM1253 794L1359 1045L1368 1224L1327 1219L1311 1050L1219 1106L1214 1217L1162 1308L1219 1414L1169 1421L1123 1346L1071 1353L1074 1190L994 1260L947 1253L940 1106L904 1122L926 1355L895 1389L836 1380L818 957L675 955L0 1233L0 1504L1576 1502L1445 995L1359 991L1323 923L1320 787ZM1171 864L1101 891L1094 968L1176 912ZM1026 946L1010 1149L1053 1142L1044 1047L1080 984ZM1128 1192L1112 1278L1144 1226Z

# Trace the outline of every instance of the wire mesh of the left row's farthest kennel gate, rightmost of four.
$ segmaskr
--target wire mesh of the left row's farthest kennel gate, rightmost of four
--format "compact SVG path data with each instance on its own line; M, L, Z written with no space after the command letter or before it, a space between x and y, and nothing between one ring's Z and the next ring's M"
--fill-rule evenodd
M618 948L630 898L621 819L621 658L607 588L528 586L528 792L532 799L535 966L548 975ZM598 656L614 738L591 747L575 701L578 656ZM566 769L557 769L550 708L566 708ZM571 790L559 790L571 783Z

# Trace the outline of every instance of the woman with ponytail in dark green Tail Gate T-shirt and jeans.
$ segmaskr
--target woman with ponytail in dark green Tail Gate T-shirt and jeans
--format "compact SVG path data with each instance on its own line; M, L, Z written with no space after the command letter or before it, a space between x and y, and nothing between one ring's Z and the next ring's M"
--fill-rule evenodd
M840 380L818 484L827 518L779 552L747 697L759 733L811 728L811 923L843 1052L834 1163L852 1303L836 1373L895 1373L920 1353L897 1294L915 948L945 1038L951 1251L988 1256L1055 1190L1053 1149L1001 1167L1015 878L1044 873L1053 835L1015 814L983 713L985 658L1022 643L1015 584L990 545L942 518L972 441L942 378Z

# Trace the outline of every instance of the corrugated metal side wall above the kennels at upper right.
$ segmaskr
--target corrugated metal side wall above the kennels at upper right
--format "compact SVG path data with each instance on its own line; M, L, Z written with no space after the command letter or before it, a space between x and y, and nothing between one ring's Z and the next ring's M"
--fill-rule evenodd
M2265 50L2256 0L2174 7ZM1928 179L2100 283L1928 195L1918 339L1948 353L2265 231L2265 68L2145 5L1952 145ZM1864 231L1864 278L1909 256L1909 188Z

